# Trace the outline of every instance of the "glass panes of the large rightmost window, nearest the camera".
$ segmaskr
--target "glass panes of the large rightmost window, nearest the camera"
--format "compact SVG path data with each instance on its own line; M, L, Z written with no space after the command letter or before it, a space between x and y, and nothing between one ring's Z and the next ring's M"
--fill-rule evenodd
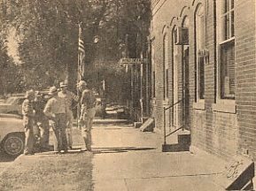
M221 99L235 99L234 0L221 1L219 86Z

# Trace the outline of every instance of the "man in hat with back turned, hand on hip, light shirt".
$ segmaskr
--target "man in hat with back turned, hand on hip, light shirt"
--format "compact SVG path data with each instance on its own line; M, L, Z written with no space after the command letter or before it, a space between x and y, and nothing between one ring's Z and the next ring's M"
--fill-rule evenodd
M46 103L43 113L54 123L52 129L57 140L54 151L60 152L64 150L64 152L67 152L65 99L58 97L58 89L56 87L50 88L49 95L52 97Z

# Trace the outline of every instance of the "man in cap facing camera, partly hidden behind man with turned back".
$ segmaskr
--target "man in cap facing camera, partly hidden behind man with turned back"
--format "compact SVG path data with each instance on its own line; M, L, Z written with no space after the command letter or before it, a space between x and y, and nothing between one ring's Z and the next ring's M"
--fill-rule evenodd
M65 99L66 103L66 138L67 146L72 149L73 139L72 139L72 127L73 127L73 112L72 112L72 101L78 102L79 97L74 95L73 92L67 90L67 83L60 82L58 96Z

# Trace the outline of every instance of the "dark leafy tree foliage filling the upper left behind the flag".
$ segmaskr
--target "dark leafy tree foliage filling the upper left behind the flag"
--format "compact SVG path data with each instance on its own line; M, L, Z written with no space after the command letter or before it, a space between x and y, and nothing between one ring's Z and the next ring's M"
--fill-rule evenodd
M19 36L27 88L45 88L67 74L74 84L79 23L86 65L92 65L99 59L116 62L127 34L132 46L137 34L145 39L151 19L150 0L4 0L1 7L4 26L15 27Z

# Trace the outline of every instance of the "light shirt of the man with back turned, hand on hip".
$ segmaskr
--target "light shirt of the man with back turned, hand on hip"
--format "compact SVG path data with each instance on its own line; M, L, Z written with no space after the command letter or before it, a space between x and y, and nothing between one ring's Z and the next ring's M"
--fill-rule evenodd
M51 97L46 103L43 112L48 117L52 117L53 114L66 113L65 99L58 96Z

